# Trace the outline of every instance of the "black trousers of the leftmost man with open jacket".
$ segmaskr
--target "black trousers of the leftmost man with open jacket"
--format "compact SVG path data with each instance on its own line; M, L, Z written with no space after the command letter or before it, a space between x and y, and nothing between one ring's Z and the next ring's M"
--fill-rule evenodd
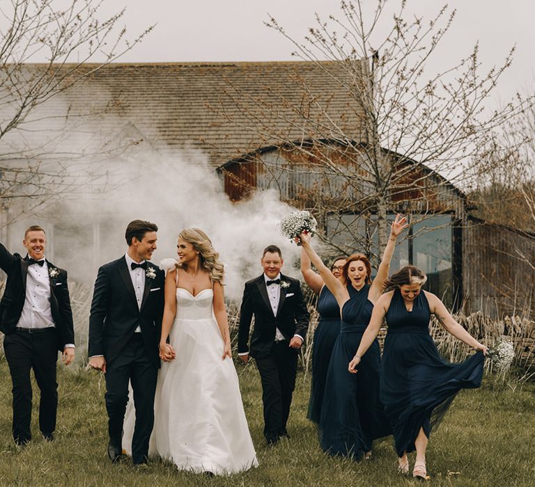
M39 333L15 330L3 339L3 351L13 381L13 438L16 442L31 439L31 369L40 390L39 429L45 436L56 429L56 333L55 328L39 330Z

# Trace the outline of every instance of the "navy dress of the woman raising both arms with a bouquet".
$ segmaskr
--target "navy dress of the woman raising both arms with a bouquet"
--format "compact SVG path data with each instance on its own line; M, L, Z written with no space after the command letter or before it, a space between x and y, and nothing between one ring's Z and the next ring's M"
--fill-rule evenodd
M371 450L373 440L391 434L379 401L378 340L373 341L362 358L359 373L348 371L373 311L369 289L369 285L360 291L348 286L351 297L342 308L341 330L327 371L319 427L320 444L325 452L352 456L355 460Z

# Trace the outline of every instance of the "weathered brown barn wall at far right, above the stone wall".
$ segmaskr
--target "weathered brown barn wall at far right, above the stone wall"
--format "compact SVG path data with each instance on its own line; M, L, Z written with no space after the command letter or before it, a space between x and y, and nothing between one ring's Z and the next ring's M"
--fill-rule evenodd
M535 312L535 237L472 219L463 227L465 312L492 317Z

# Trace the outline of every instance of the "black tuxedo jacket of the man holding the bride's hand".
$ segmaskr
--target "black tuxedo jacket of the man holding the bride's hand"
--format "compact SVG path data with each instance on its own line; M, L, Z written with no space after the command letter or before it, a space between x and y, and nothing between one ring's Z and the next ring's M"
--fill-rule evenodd
M164 313L164 271L150 262L147 265L153 269L155 277L150 278L146 272L141 310L124 255L98 269L89 317L90 357L103 355L111 362L139 325L148 356L160 367L158 343Z

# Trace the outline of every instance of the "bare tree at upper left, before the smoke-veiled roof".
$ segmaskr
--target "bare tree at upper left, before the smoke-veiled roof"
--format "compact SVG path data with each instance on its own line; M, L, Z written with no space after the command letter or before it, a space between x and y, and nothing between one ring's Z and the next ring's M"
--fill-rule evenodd
M111 107L71 110L62 97L112 61L132 42L119 23L124 10L100 19L103 0L10 0L0 5L0 200L17 218L73 191L106 184L89 168L117 145L84 131ZM32 64L36 58L45 63ZM95 58L102 61L94 62ZM90 63L91 64L87 64ZM8 222L3 221L3 224Z

